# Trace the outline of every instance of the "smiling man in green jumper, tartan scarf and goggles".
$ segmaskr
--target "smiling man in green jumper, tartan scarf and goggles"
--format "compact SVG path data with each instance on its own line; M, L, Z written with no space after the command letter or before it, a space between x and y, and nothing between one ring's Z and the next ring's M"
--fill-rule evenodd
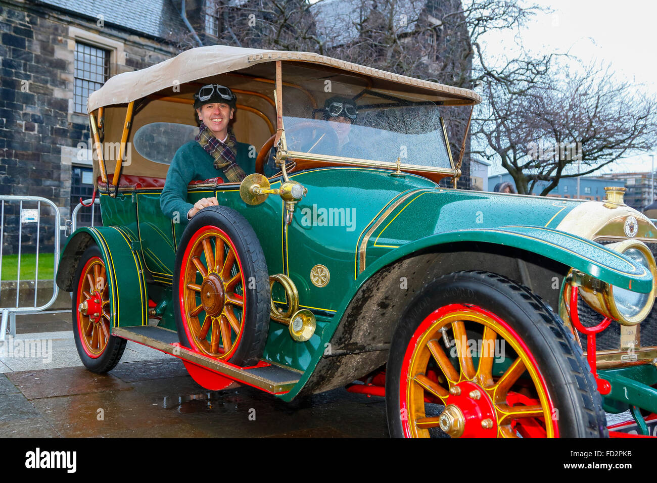
M229 126L236 103L237 96L225 85L204 85L194 95L198 135L176 151L160 196L162 213L169 218L186 223L206 206L219 204L214 196L188 202L190 181L219 176L227 183L239 183L246 173L255 171L254 149L239 143Z

